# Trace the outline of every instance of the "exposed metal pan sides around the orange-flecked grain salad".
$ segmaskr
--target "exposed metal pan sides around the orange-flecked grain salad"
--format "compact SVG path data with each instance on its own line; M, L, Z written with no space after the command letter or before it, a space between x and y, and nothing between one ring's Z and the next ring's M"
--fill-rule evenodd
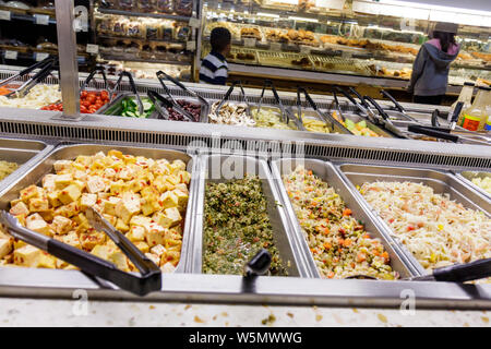
M396 245L393 245L392 239L384 233L382 229L376 226L373 217L367 214L366 208L358 197L356 197L350 189L344 183L342 177L337 172L336 168L327 161L318 159L295 159L295 158L284 158L272 163L272 172L275 181L278 185L283 203L285 204L285 209L288 213L288 218L291 220L292 227L295 227L296 237L299 240L299 245L302 249L304 255L307 255L308 265L313 270L314 277L320 278L321 275L315 265L315 261L312 253L309 250L303 231L295 214L294 206L288 197L285 185L282 180L282 176L288 176L291 173L298 165L302 165L308 170L312 170L320 179L327 182L336 193L343 198L347 207L354 212L354 217L363 221L366 231L369 232L373 238L378 238L391 257L391 266L395 272L399 274L402 278L410 277L417 275L417 270L411 266L411 264L405 260L405 254L398 251Z

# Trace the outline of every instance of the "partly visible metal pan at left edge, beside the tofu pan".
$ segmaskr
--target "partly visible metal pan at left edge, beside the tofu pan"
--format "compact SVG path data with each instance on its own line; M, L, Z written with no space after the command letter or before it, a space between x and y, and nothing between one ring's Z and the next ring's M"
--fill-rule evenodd
M52 145L41 141L20 140L20 139L0 139L0 160L16 163L19 168L0 180L0 189L8 185L15 178L20 178L31 166L39 161Z

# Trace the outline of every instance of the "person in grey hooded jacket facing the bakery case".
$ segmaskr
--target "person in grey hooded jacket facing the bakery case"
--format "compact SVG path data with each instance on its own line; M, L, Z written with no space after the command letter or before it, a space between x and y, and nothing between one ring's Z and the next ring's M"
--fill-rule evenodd
M414 103L441 105L448 84L450 64L460 50L455 43L457 25L438 23L432 39L421 46L412 65L409 93Z

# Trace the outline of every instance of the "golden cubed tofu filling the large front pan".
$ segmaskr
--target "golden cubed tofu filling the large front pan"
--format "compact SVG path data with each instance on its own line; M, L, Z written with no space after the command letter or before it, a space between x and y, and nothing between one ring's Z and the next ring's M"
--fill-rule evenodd
M10 213L26 228L136 272L132 262L85 217L94 207L163 272L177 267L191 174L182 160L154 160L119 151L58 160L41 186L29 185ZM23 241L0 226L0 266L73 269L72 265Z

